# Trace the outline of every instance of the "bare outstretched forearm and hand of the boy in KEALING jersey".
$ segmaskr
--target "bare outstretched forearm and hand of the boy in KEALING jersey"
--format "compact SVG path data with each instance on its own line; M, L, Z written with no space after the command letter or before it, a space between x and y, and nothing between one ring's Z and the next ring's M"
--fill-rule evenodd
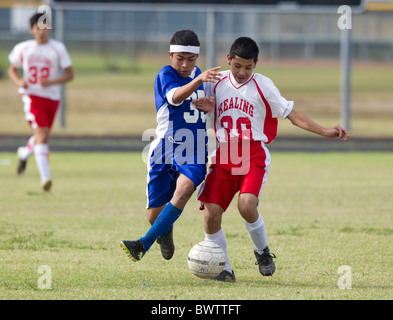
M324 128L320 126L318 123L312 121L310 118L305 116L304 114L298 113L295 110L292 110L291 113L287 117L292 124L295 126L302 128L304 130L319 134L320 136L326 138L337 138L340 140L346 141L349 137L347 130L342 128L340 125L336 125L332 128Z

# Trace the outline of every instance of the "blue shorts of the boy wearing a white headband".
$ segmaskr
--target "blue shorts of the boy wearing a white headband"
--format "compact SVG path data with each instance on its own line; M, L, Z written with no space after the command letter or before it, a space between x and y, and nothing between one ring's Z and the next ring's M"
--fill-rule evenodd
M146 208L161 207L172 199L179 173L189 178L196 189L205 179L206 164L154 164L147 175Z

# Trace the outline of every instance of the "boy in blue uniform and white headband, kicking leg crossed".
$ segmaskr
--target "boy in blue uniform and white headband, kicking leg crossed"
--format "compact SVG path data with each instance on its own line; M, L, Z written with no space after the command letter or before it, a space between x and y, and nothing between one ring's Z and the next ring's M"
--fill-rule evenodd
M205 96L203 82L220 79L220 67L202 73L196 66L199 48L193 31L176 32L168 52L172 65L163 67L155 79L157 137L149 150L146 206L152 226L139 240L120 242L133 261L139 261L156 240L163 257L172 258L173 223L205 178L207 109L192 101Z

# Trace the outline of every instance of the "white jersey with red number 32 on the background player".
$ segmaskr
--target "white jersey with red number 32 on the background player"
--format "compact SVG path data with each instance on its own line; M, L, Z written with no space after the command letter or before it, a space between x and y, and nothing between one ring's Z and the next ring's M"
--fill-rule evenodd
M61 85L43 88L39 81L56 79L63 69L72 65L63 43L53 39L41 45L35 40L23 41L13 48L8 59L16 68L23 69L23 79L28 86L25 94L60 100Z

